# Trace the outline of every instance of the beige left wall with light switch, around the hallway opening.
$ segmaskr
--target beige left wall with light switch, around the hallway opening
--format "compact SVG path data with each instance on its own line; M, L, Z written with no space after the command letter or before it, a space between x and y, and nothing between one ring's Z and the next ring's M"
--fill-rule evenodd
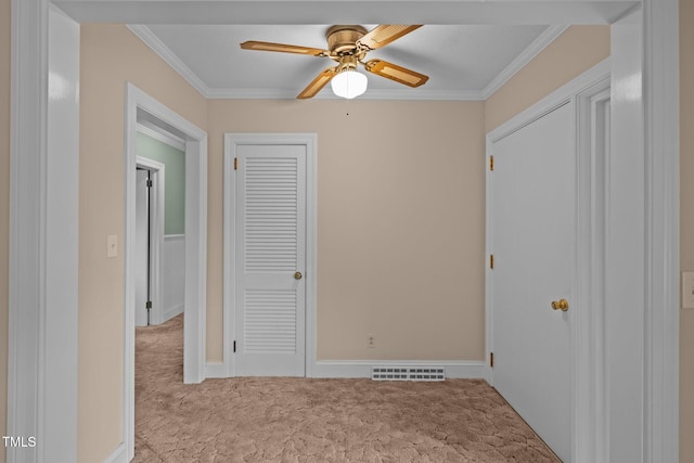
M202 129L206 101L125 26L82 25L79 157L78 459L121 440L125 229L124 106L130 81ZM116 234L117 258L106 258Z

